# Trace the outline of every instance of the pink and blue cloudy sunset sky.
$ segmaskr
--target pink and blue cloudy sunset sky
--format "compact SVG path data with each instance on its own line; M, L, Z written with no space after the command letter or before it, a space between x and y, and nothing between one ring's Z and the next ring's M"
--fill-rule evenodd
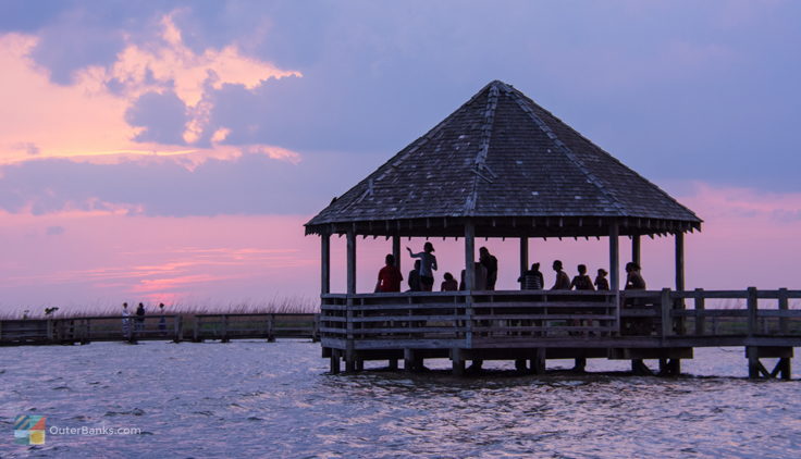
M313 298L303 224L493 79L704 220L688 287L799 288L800 21L791 0L0 0L0 310ZM458 272L460 243L435 245ZM516 243L484 245L515 288ZM390 246L358 249L371 291ZM572 275L606 250L531 258ZM673 240L642 250L671 286Z

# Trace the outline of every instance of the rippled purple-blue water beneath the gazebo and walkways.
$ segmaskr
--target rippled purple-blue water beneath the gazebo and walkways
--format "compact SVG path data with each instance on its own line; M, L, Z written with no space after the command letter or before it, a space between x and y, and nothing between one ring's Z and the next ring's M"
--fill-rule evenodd
M745 380L742 349L697 349L674 380L605 360L589 375L517 376L501 362L461 380L329 375L319 356L289 340L0 348L0 457L801 456L801 383ZM17 414L141 432L23 446Z

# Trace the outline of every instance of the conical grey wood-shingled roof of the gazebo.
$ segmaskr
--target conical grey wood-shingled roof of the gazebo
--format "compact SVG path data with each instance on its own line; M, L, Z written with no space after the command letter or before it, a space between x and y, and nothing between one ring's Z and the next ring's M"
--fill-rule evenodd
M492 82L306 224L307 234L655 235L701 220L510 85Z

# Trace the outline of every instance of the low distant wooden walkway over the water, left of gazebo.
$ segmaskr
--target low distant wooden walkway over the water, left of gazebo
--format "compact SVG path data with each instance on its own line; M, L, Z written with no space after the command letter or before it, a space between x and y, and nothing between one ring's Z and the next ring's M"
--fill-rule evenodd
M0 321L0 346L91 342L309 338L318 340L318 314L193 314L86 317Z

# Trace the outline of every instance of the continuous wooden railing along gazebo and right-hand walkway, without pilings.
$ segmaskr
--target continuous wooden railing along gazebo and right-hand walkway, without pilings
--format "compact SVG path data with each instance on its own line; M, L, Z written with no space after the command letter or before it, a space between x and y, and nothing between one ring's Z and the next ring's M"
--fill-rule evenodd
M550 339L801 335L801 290L446 291L323 295L320 333L334 347L520 346ZM619 305L619 307L618 307ZM731 340L735 339L735 340ZM701 342L699 342L701 343ZM739 342L738 342L739 343Z

